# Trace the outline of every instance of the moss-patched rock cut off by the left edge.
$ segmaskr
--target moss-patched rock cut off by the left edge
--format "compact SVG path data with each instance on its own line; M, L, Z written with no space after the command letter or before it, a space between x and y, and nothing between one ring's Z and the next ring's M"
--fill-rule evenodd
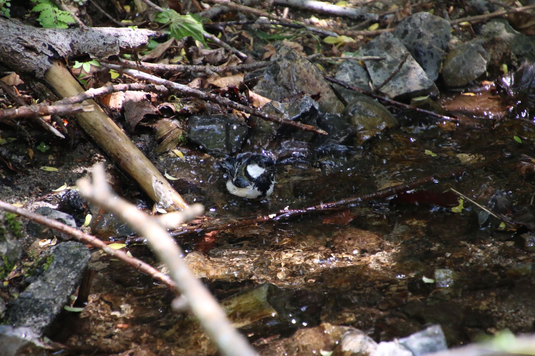
M7 215L7 216L6 216ZM0 211L0 279L4 279L22 256L20 222L16 215Z

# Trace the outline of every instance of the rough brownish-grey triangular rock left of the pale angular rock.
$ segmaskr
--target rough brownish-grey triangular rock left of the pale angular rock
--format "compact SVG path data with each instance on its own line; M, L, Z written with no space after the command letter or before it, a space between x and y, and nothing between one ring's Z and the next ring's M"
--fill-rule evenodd
M319 94L319 109L326 113L339 114L343 105L327 84L319 70L302 57L299 52L281 46L266 68L264 78L255 86L254 91L271 100L281 101L305 92Z

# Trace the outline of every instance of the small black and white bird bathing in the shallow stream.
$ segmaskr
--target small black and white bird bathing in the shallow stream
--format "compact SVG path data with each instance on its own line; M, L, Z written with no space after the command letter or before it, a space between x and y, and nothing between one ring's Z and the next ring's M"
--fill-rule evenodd
M273 160L264 155L252 155L244 161L231 158L221 162L227 171L227 190L248 199L267 198L275 184Z

